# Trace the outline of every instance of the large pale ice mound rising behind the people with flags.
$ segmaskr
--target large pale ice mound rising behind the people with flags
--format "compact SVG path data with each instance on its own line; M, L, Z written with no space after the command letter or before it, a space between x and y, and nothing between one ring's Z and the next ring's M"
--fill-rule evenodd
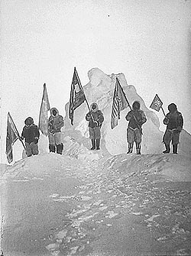
M128 151L126 129L128 122L125 120L129 109L125 109L121 112L121 119L118 122L118 126L114 129L111 128L110 118L112 112L112 97L115 89L115 80L118 77L122 88L128 98L130 104L134 100L141 102L141 109L144 110L147 116L147 122L143 125L143 140L142 140L142 154L160 154L163 151L163 132L160 131L160 122L157 115L144 103L144 100L138 96L134 86L128 86L123 73L106 75L98 68L89 70L89 83L84 86L86 98L91 104L96 102L99 105L99 109L102 110L105 121L102 125L102 141L101 147L104 154L124 154ZM65 126L63 128L63 144L64 138L69 136L75 143L83 144L84 147L91 147L89 141L88 122L86 122L85 116L89 111L86 103L79 106L74 112L74 125L70 125L70 119L68 118L69 103L66 104L66 116L64 118ZM182 131L180 135L179 154L191 155L191 135L186 131ZM70 147L74 147L74 144L70 144ZM65 147L68 149L68 144Z

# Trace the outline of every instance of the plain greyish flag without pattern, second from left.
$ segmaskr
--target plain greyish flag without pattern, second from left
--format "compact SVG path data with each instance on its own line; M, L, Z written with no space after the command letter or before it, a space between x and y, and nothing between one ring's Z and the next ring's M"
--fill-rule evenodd
M50 103L49 103L48 95L47 95L47 86L46 86L46 83L44 83L44 92L43 92L43 98L42 98L42 102L41 102L41 106L40 106L38 127L39 127L40 131L42 131L42 133L46 136L48 134L47 113L49 110L50 110Z

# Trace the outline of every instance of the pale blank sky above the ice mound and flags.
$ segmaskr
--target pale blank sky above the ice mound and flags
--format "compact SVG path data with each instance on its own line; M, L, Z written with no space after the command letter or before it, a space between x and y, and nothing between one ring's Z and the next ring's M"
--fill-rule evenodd
M37 124L46 83L64 116L74 66L83 86L99 67L124 73L148 108L156 93L165 112L176 103L190 133L190 24L190 0L2 0L2 162L8 111L20 133Z

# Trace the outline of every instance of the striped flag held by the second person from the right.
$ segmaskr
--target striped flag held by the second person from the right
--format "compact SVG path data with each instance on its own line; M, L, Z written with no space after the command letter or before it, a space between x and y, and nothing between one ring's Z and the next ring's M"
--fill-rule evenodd
M128 106L129 106L128 99L126 98L125 92L123 91L117 78L115 83L115 91L114 91L113 103L112 103L112 117L111 117L112 129L118 125L118 119L120 119L120 112L128 108Z

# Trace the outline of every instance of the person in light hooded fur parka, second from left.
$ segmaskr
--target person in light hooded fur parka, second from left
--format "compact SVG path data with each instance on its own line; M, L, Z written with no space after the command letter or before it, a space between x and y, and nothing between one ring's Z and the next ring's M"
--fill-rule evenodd
M50 152L62 154L63 144L61 141L61 128L63 127L63 116L59 115L56 108L50 109L50 118L48 120L48 139Z

